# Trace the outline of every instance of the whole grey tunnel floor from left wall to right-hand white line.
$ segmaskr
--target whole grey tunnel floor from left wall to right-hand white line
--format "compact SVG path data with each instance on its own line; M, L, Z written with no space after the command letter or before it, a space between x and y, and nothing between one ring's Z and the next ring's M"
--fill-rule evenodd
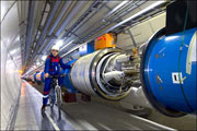
M40 88L39 88L40 90ZM14 130L173 130L99 103L65 103L40 112L43 95L23 81Z

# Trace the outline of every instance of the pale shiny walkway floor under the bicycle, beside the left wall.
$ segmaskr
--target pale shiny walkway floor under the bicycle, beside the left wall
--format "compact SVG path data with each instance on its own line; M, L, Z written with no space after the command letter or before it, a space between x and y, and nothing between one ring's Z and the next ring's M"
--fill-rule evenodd
M42 115L42 104L43 95L23 81L14 130L74 130L66 119L66 114L62 112L62 119L58 119L56 106L53 109L54 111L47 108Z

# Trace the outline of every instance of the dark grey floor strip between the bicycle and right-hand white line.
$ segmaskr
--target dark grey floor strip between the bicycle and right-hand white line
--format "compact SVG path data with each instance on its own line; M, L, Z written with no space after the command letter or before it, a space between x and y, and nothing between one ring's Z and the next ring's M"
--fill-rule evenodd
M152 121L97 104L63 104L63 111L77 130L172 130Z

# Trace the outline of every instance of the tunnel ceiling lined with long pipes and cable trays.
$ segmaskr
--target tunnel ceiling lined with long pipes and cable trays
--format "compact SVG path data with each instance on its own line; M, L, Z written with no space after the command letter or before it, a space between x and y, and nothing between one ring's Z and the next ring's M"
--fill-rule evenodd
M106 32L118 34L165 11L167 3L147 0L16 1L22 70L27 74L40 68L42 57L59 39L63 41L60 55L66 57L73 48Z

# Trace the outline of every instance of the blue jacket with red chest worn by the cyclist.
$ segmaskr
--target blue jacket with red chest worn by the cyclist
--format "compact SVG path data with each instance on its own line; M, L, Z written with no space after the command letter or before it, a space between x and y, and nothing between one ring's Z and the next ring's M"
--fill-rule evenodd
M53 55L48 56L45 61L45 73L49 73L50 75L56 75L60 72L60 67L65 69L71 68L68 63L62 62L62 58L59 56L54 57Z

